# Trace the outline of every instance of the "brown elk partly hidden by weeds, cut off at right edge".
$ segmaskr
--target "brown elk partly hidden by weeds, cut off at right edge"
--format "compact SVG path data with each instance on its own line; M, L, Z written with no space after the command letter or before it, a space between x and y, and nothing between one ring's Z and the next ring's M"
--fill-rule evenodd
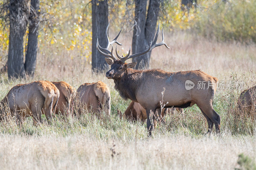
M239 98L238 98L238 108L240 110L246 110L251 112L252 111L252 107L256 106L256 86L253 86L251 88L249 88L248 90L244 90Z

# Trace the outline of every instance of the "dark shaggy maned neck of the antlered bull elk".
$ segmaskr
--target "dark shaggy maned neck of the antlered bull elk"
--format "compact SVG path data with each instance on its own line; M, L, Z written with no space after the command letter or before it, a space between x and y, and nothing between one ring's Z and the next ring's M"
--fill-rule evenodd
M119 77L114 79L115 89L125 100L136 101L136 92L142 82L142 71L127 69Z

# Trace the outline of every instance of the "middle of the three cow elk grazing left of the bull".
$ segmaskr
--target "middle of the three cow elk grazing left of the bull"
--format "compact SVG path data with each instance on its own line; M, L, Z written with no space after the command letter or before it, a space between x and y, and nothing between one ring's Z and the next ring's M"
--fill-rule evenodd
M70 103L74 101L76 89L64 81L52 82L60 91L60 98L57 104L56 114L67 116L70 113ZM67 114L65 114L65 112Z

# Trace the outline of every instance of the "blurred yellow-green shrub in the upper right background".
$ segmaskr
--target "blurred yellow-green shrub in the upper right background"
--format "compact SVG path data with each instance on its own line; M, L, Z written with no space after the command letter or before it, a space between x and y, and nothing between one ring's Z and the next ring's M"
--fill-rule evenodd
M256 42L256 0L218 0L198 14L195 28L219 41Z

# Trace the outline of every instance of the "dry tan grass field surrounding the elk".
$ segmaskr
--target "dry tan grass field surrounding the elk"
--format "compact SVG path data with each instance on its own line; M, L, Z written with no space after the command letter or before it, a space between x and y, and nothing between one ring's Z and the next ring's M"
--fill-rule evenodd
M126 53L131 36L122 34L119 41L124 44L120 53ZM220 81L256 83L255 44L210 41L184 32L165 32L165 42L171 48L154 49L150 68L171 72L201 69ZM34 80L66 81L76 89L82 83L101 80L111 91L111 115L98 119L84 110L79 120L57 117L52 125L44 120L37 127L28 118L21 129L14 122L3 121L1 169L234 169L241 168L237 164L241 153L252 160L250 167L256 161L255 121L243 114L234 116L238 93L244 88L217 90L213 107L221 116L220 135L205 135L207 122L193 106L184 114L168 115L153 137L147 137L145 124L120 120L116 115L116 110L124 112L130 101L121 99L113 80L105 73L93 74L90 59L81 61L78 56L76 51L40 48L35 77L9 81L7 74L2 74L0 98L12 86Z

